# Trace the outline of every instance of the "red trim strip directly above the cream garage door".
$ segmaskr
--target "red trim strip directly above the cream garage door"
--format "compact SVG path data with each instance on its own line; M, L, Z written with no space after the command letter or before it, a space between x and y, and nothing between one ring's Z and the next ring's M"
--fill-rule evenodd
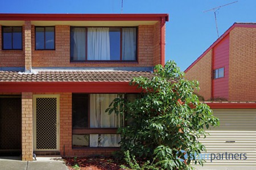
M206 103L210 109L256 109L256 103Z

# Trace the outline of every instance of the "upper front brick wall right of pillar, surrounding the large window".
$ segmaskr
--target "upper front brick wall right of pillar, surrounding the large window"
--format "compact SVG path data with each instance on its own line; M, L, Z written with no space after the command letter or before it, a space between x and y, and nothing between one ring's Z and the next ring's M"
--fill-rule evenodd
M55 50L35 50L35 29L32 26L32 67L153 67L154 26L138 27L138 63L133 62L70 62L69 26L55 26ZM159 46L160 47L160 46ZM155 62L157 63L157 62Z

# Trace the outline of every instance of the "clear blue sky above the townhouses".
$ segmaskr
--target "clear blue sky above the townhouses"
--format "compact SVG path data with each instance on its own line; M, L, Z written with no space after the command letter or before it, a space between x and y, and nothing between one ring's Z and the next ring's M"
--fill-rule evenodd
M166 60L185 70L216 39L214 13L204 10L236 0L123 0L123 14L168 13ZM0 13L121 13L121 0L2 0ZM238 0L217 12L223 34L234 22L256 22L256 1Z

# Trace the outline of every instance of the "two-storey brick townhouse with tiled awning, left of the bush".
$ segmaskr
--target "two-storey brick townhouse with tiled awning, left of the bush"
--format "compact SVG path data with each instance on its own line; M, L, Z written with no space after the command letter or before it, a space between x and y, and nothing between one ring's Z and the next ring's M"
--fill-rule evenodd
M108 155L135 76L164 64L168 14L0 14L0 154Z

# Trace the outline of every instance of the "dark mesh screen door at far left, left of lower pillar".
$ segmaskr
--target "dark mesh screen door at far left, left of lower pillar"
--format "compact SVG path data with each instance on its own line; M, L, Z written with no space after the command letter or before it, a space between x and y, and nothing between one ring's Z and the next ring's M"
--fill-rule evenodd
M20 150L20 148L20 98L0 98L0 150Z

